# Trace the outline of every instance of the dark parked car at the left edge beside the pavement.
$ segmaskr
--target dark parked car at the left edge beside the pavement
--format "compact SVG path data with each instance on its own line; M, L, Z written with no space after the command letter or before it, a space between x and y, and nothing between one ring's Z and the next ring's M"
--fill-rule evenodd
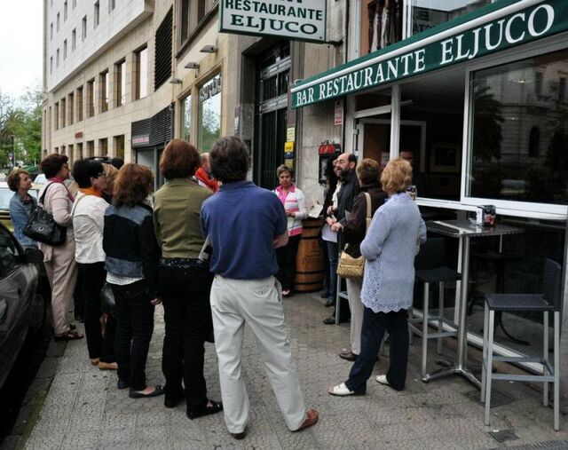
M45 302L37 293L43 253L22 249L0 224L0 387L30 333L43 327Z

